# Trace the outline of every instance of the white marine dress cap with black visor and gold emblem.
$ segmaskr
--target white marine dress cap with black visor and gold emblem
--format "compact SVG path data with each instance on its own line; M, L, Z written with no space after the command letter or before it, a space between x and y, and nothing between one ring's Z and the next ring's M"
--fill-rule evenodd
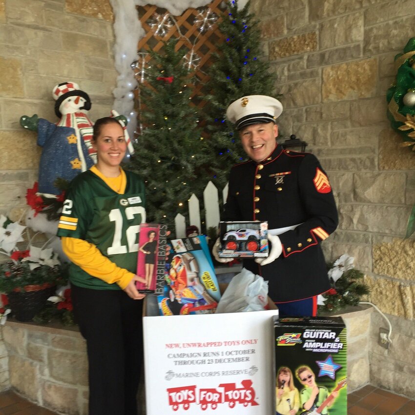
M228 106L226 116L240 130L248 125L275 123L282 113L282 104L268 95L247 95Z

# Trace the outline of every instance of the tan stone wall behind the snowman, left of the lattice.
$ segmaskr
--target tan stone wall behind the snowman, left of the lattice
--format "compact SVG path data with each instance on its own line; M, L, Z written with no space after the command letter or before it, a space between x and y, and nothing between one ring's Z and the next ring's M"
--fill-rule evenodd
M58 121L52 89L65 81L88 93L93 121L109 115L112 22L109 0L0 0L0 213L20 216L38 175L40 147L21 115Z

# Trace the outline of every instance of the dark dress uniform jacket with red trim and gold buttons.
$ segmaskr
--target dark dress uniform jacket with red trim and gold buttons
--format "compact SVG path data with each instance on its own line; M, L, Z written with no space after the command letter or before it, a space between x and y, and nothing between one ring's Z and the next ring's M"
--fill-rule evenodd
M260 267L244 267L269 281L275 302L309 298L330 289L320 242L338 225L332 188L317 158L275 147L261 163L233 166L229 177L226 221L268 221L268 228L298 225L280 235L279 258Z

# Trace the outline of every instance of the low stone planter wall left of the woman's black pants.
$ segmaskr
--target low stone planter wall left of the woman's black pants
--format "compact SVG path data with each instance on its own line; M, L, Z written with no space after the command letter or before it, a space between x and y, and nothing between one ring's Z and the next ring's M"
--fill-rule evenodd
M42 407L87 415L88 362L78 331L7 322L1 332L13 390Z

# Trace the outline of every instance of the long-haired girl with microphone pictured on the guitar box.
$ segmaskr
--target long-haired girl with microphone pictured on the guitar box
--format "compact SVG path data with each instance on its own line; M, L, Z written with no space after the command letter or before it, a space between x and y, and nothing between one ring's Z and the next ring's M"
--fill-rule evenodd
M300 407L298 389L294 387L294 380L290 368L279 368L277 387L275 390L277 415L295 415Z

